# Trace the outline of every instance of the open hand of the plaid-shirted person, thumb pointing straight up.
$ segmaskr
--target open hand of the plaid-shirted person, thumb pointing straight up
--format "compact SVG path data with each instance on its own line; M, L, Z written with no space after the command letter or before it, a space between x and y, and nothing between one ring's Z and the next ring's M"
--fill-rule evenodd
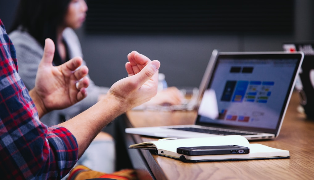
M75 57L60 66L53 66L54 51L53 41L46 39L35 87L30 91L40 117L51 110L67 108L87 96L89 79L85 76L88 68L81 66L82 58Z

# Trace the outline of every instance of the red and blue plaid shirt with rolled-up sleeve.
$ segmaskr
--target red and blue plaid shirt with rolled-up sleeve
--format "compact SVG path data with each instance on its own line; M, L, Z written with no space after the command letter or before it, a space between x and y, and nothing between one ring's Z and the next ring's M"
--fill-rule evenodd
M61 179L78 159L76 139L39 121L1 19L0 25L0 179Z

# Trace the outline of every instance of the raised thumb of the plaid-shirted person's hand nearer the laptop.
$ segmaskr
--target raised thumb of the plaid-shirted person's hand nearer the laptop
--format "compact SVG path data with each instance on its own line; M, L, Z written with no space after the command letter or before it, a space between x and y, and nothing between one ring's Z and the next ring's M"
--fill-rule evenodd
M134 77L138 78L138 82L140 84L144 84L146 81L148 81L150 78L154 77L154 81L158 81L158 71L160 67L160 62L158 60L151 61L149 64L147 64L140 72L133 75ZM156 75L157 74L157 75Z

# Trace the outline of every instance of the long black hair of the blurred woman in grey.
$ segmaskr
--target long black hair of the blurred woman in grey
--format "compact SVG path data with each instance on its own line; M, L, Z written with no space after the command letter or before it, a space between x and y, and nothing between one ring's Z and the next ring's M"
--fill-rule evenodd
M27 30L43 47L45 39L57 43L57 27L63 23L71 0L20 0L13 25L9 32ZM57 45L53 59L56 65L62 64Z

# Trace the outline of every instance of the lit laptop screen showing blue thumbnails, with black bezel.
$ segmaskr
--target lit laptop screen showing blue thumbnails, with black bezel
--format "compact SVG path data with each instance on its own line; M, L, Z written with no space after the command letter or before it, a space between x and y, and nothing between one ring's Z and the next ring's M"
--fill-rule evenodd
M196 124L276 134L301 57L219 53Z

